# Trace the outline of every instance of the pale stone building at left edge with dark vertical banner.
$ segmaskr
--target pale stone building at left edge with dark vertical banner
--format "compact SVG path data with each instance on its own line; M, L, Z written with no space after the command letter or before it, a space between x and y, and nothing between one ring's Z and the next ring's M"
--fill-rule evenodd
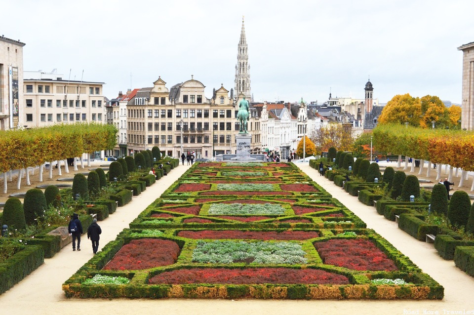
M0 130L23 125L23 46L19 40L0 37Z

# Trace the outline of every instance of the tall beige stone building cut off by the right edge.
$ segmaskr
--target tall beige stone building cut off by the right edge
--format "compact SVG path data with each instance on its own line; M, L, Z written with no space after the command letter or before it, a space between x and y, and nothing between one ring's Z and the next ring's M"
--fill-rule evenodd
M461 128L474 128L474 42L458 47L463 52Z

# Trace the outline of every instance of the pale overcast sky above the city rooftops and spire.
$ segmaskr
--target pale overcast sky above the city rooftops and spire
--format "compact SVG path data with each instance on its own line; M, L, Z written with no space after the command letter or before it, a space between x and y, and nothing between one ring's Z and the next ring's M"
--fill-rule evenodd
M437 95L461 103L471 0L9 0L1 34L26 43L25 71L105 82L104 95L201 81L234 88L242 15L255 101Z

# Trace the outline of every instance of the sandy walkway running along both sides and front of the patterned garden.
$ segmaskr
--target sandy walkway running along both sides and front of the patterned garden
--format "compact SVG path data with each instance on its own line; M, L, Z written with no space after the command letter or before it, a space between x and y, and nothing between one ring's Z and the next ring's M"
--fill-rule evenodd
M339 199L354 211L369 228L375 229L387 238L402 253L409 256L424 272L428 273L445 288L443 301L290 301L290 300L128 300L128 299L67 299L61 284L74 274L92 257L90 241L82 238L82 251L73 252L68 245L30 276L0 296L0 310L4 314L71 314L81 310L99 314L409 314L404 311L472 311L474 302L474 278L458 270L452 261L440 258L432 244L417 241L399 230L395 223L377 214L373 207L365 206L320 177L307 163L296 163L323 186L333 197ZM133 201L118 208L105 221L102 227L100 248L115 239L128 223L177 178L188 166L180 165L170 174L148 188ZM72 311L74 310L74 311ZM425 313L426 314L426 313ZM430 313L428 313L430 314ZM431 313L435 314L435 313ZM451 313L454 314L454 313ZM458 313L462 314L462 313Z

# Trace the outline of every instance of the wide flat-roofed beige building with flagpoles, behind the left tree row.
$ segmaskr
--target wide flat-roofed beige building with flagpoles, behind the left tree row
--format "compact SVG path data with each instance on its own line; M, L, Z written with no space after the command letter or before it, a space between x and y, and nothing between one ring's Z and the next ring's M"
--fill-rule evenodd
M102 82L69 80L56 73L24 72L21 121L27 128L54 123L105 123Z

